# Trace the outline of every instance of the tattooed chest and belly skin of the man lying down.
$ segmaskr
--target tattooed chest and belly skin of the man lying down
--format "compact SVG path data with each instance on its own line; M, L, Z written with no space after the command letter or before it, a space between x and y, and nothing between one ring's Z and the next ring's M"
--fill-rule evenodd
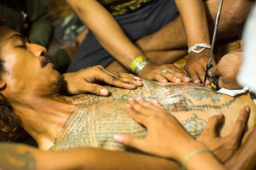
M87 94L73 96L72 100L68 101L76 105L76 110L70 113L50 150L74 147L125 150L127 148L124 145L113 141L115 134L131 134L144 138L147 135L146 129L131 119L125 111L130 97L140 96L147 101L157 100L194 138L201 135L210 116L220 111L226 113L232 106L237 113L227 116L231 127L244 107L240 101L250 98L248 95L233 98L218 94L210 88L194 83L173 84L143 80L143 87L135 90L105 87L110 92L108 97ZM228 125L227 123L227 129Z

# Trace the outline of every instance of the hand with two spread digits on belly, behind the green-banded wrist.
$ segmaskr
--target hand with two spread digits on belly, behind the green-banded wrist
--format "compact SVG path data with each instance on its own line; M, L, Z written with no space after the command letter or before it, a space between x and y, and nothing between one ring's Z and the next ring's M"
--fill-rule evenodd
M250 107L246 106L241 110L229 135L222 138L218 135L217 130L223 120L223 115L216 113L215 116L208 120L204 132L198 137L197 141L211 149L221 162L225 162L230 159L240 146L249 115Z

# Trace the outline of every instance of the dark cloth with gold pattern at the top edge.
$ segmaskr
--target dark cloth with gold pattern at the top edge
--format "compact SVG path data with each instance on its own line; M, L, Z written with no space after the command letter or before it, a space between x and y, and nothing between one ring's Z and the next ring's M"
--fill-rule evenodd
M142 8L153 0L98 0L113 16L127 14Z

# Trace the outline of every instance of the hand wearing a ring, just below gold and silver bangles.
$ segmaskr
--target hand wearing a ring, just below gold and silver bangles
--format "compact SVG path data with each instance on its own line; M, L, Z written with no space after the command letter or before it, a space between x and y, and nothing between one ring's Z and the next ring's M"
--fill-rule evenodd
M162 70L167 70L163 76L161 75ZM173 64L159 65L154 63L149 63L146 65L139 73L139 77L147 80L154 80L158 82L191 82L185 73L180 71Z

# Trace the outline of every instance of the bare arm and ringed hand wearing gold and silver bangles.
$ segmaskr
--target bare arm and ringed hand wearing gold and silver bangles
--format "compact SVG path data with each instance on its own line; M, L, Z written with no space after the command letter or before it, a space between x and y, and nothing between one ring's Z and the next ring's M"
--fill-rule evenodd
M81 21L92 31L97 40L116 60L130 70L130 65L143 52L125 36L113 16L96 0L67 0ZM95 13L95 11L97 11ZM104 28L104 30L103 30ZM108 34L105 34L108 32ZM171 74L161 76L162 70ZM191 82L192 80L174 65L146 65L139 76L159 82Z

